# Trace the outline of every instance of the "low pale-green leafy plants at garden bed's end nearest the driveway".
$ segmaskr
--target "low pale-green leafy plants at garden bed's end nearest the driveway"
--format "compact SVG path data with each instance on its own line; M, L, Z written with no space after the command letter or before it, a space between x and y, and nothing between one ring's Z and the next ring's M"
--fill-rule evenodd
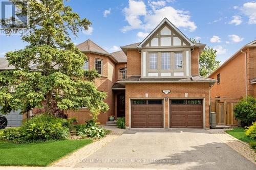
M106 136L106 131L103 127L97 126L93 120L89 120L86 124L75 125L76 134L79 138L95 137L101 138Z

